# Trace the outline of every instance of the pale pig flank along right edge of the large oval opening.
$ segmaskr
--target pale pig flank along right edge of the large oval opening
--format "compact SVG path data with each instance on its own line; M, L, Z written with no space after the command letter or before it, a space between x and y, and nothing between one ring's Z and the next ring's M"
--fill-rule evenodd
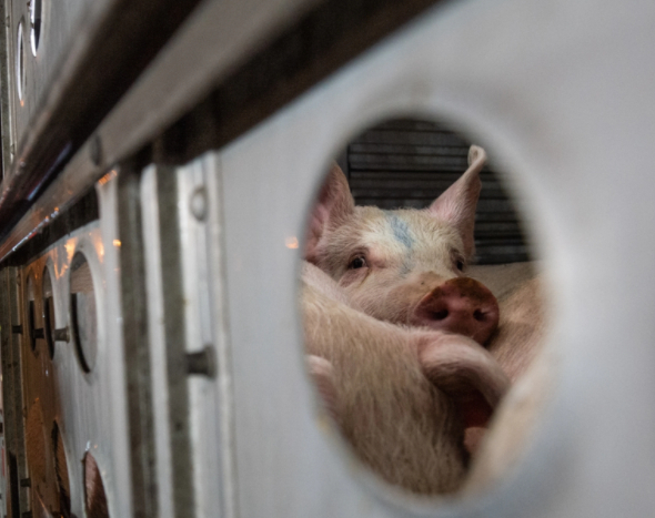
M478 444L462 491L480 494L516 467L552 393L557 358L543 346L550 318L538 268L516 263L472 270L472 276L487 282L498 297L501 321L488 351L513 386L488 431L467 429L470 440L475 437Z

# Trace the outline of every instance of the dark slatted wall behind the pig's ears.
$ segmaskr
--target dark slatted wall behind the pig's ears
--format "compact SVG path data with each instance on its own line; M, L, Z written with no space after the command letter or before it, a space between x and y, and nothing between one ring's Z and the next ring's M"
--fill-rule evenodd
M357 205L430 205L466 170L471 143L433 122L395 120L347 146L346 167ZM475 222L477 264L528 261L518 216L497 175L485 167Z

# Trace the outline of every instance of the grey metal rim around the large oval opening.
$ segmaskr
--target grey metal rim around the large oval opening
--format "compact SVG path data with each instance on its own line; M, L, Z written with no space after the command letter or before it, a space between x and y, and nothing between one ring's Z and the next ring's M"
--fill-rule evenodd
M455 110L456 111L456 110ZM322 166L316 167L316 174L314 176L314 189L305 202L304 211L303 211L303 219L301 220L301 234L302 232L306 231L306 225L309 222L309 214L312 210L318 194L321 189L321 184L325 179L325 172L330 170L330 165L334 162L334 158L340 156L346 145L353 140L356 139L363 132L384 123L385 121L396 120L396 119L416 119L416 120L425 120L425 121L437 121L440 124L455 131L457 134L463 136L465 140L473 142L475 144L482 145L485 150L496 150L495 144L487 144L487 139L484 136L478 139L477 136L484 133L484 130L477 128L476 122L471 120L471 114L468 116L463 116L462 113L453 113L452 106L447 105L440 105L434 106L433 103L426 103L424 110L419 109L411 109L406 110L401 106L396 106L395 109L391 109L385 106L383 110L379 110L376 114L367 118L363 118L362 120L357 121L356 124L353 124L345 129L337 140L334 140L336 143L332 143L332 145L326 146L325 149L329 150L328 153L323 154L323 160L321 162ZM345 138L343 135L346 135ZM508 152L507 150L504 150ZM495 156L495 153L494 153ZM503 164L502 160L494 160L494 162L498 162L503 169L505 165ZM528 247L528 252L531 255L531 261L534 261L534 257L544 257L545 252L542 247L542 242L544 237L543 228L534 225L534 214L526 210L528 209L525 203L521 202L521 199L526 193L523 189L520 189L515 183L516 174L512 173L511 169L507 169L507 174L498 175L498 181L503 184L503 187L506 190L508 197L514 203L516 209L516 214L521 221L522 228L524 235L526 237L526 244ZM301 243L302 245L303 243ZM295 272L300 272L303 258L299 255L296 264L295 264ZM548 286L552 284L551 280L547 276L546 268L540 267L540 275L545 277L545 288L544 288L544 302L546 306L546 312L548 315L548 319L556 316L556 312L554 311L553 305L556 303L554 301ZM300 306L299 306L300 311ZM296 313L299 323L302 326L304 325L302 314ZM554 322L554 318L553 318ZM301 335L302 336L302 335ZM548 356L553 356L553 344L552 344L553 333L552 329L548 329L543 338L542 342L542 352L546 352ZM301 339L300 344L302 345L301 351L304 354L305 345L304 341ZM537 358L534 358L537 359ZM534 360L531 363L533 365ZM306 373L306 366L303 365L303 370ZM551 378L548 380L548 386L554 386L557 383L557 373L552 373ZM306 373L305 379L310 385L310 390L314 395L315 406L314 412L316 408L321 407L322 403L320 399L320 394L318 388L315 387L315 383L311 379L309 373ZM329 426L326 427L330 430L329 434L323 434L328 436L329 443L331 446L336 450L336 454L344 463L346 470L351 474L355 481L362 484L362 487L366 488L369 491L372 492L373 496L379 498L381 501L390 505L392 508L402 509L402 510L410 510L412 512L417 514L419 516L423 515L432 515L435 510L451 512L456 511L457 509L462 509L462 506L467 506L470 502L478 501L482 502L487 498L492 497L494 494L498 491L504 491L504 487L507 485L512 485L514 481L515 476L521 470L521 467L525 464L525 461L531 456L530 453L533 448L540 447L537 441L541 444L538 438L538 425L543 421L543 419L547 419L547 414L552 410L552 400L551 398L544 398L544 400L540 402L538 404L541 415L537 417L536 423L533 423L532 429L526 434L524 437L523 444L521 445L521 453L515 463L511 466L507 466L506 469L503 470L502 475L497 478L492 480L488 485L483 486L480 490L467 491L465 489L466 481L462 486L461 489L453 494L441 494L441 495L414 495L402 487L393 486L382 479L374 470L366 467L363 463L361 463L354 456L352 451L352 447L347 444L346 439L341 436L339 430L339 426L334 423L333 419L328 418L322 419L322 423L328 423ZM320 414L325 414L321 408ZM495 425L494 425L495 427ZM543 446L543 445L541 445ZM353 461L354 460L354 461ZM470 474L467 475L468 478Z

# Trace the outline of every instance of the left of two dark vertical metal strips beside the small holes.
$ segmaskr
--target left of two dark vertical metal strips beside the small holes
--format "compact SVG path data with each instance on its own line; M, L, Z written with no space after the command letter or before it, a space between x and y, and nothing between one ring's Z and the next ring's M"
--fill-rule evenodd
M145 262L140 204L141 169L125 164L119 174L121 303L128 386L128 418L134 518L158 516L152 380L148 336Z

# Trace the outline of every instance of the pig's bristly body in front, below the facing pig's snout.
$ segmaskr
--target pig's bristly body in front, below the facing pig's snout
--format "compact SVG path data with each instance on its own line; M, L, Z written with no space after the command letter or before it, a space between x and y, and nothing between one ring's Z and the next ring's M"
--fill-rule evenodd
M369 468L416 494L457 490L481 426L508 387L465 336L383 322L313 265L303 275L308 366L341 434Z

